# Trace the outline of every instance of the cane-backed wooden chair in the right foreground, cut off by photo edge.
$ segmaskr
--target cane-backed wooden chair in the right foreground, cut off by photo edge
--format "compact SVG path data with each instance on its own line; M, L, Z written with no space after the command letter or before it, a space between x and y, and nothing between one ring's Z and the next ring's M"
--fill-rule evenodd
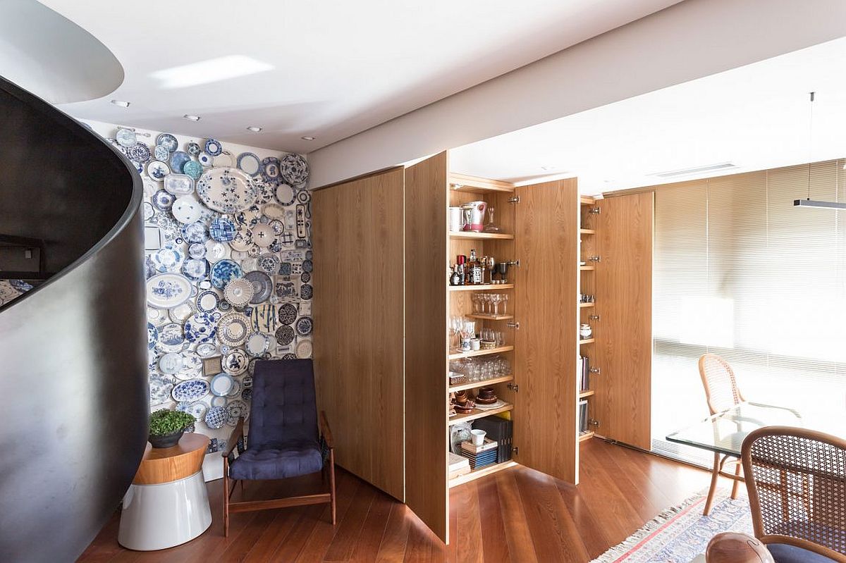
M741 452L755 537L777 563L846 563L846 440L769 426Z

